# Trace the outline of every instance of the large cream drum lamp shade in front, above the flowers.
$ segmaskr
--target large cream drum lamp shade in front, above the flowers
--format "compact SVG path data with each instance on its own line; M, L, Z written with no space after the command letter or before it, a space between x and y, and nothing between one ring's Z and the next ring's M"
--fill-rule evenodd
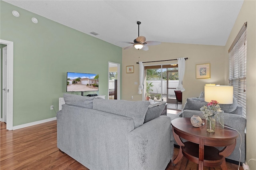
M204 101L216 100L220 104L233 103L233 86L204 86Z

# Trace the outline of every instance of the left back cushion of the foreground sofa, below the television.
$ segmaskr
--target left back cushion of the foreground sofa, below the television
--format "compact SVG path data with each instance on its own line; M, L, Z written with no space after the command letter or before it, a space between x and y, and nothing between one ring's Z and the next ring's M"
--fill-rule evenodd
M64 101L67 105L74 105L92 109L92 101L94 98L80 95L70 95L64 93Z

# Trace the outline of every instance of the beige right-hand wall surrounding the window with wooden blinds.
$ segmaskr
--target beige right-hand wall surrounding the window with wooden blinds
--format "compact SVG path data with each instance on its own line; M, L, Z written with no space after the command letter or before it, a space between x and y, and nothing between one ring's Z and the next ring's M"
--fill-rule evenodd
M225 65L228 66L228 49L242 25L247 22L246 62L246 161L256 159L256 1L245 0L232 32L225 46ZM228 67L225 70L228 82ZM250 169L256 170L256 161L249 162Z

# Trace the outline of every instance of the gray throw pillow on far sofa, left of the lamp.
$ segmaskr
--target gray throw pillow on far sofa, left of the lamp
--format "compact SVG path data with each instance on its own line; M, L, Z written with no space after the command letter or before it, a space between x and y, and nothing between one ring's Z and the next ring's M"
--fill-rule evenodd
M200 111L202 106L207 105L208 103L201 98L188 98L187 102L184 105L183 110L195 110Z

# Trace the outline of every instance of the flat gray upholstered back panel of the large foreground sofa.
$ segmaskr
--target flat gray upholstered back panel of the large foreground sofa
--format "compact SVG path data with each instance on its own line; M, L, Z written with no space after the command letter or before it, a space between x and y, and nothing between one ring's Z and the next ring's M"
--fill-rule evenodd
M128 134L133 119L62 105L57 113L57 147L89 169L128 169Z

